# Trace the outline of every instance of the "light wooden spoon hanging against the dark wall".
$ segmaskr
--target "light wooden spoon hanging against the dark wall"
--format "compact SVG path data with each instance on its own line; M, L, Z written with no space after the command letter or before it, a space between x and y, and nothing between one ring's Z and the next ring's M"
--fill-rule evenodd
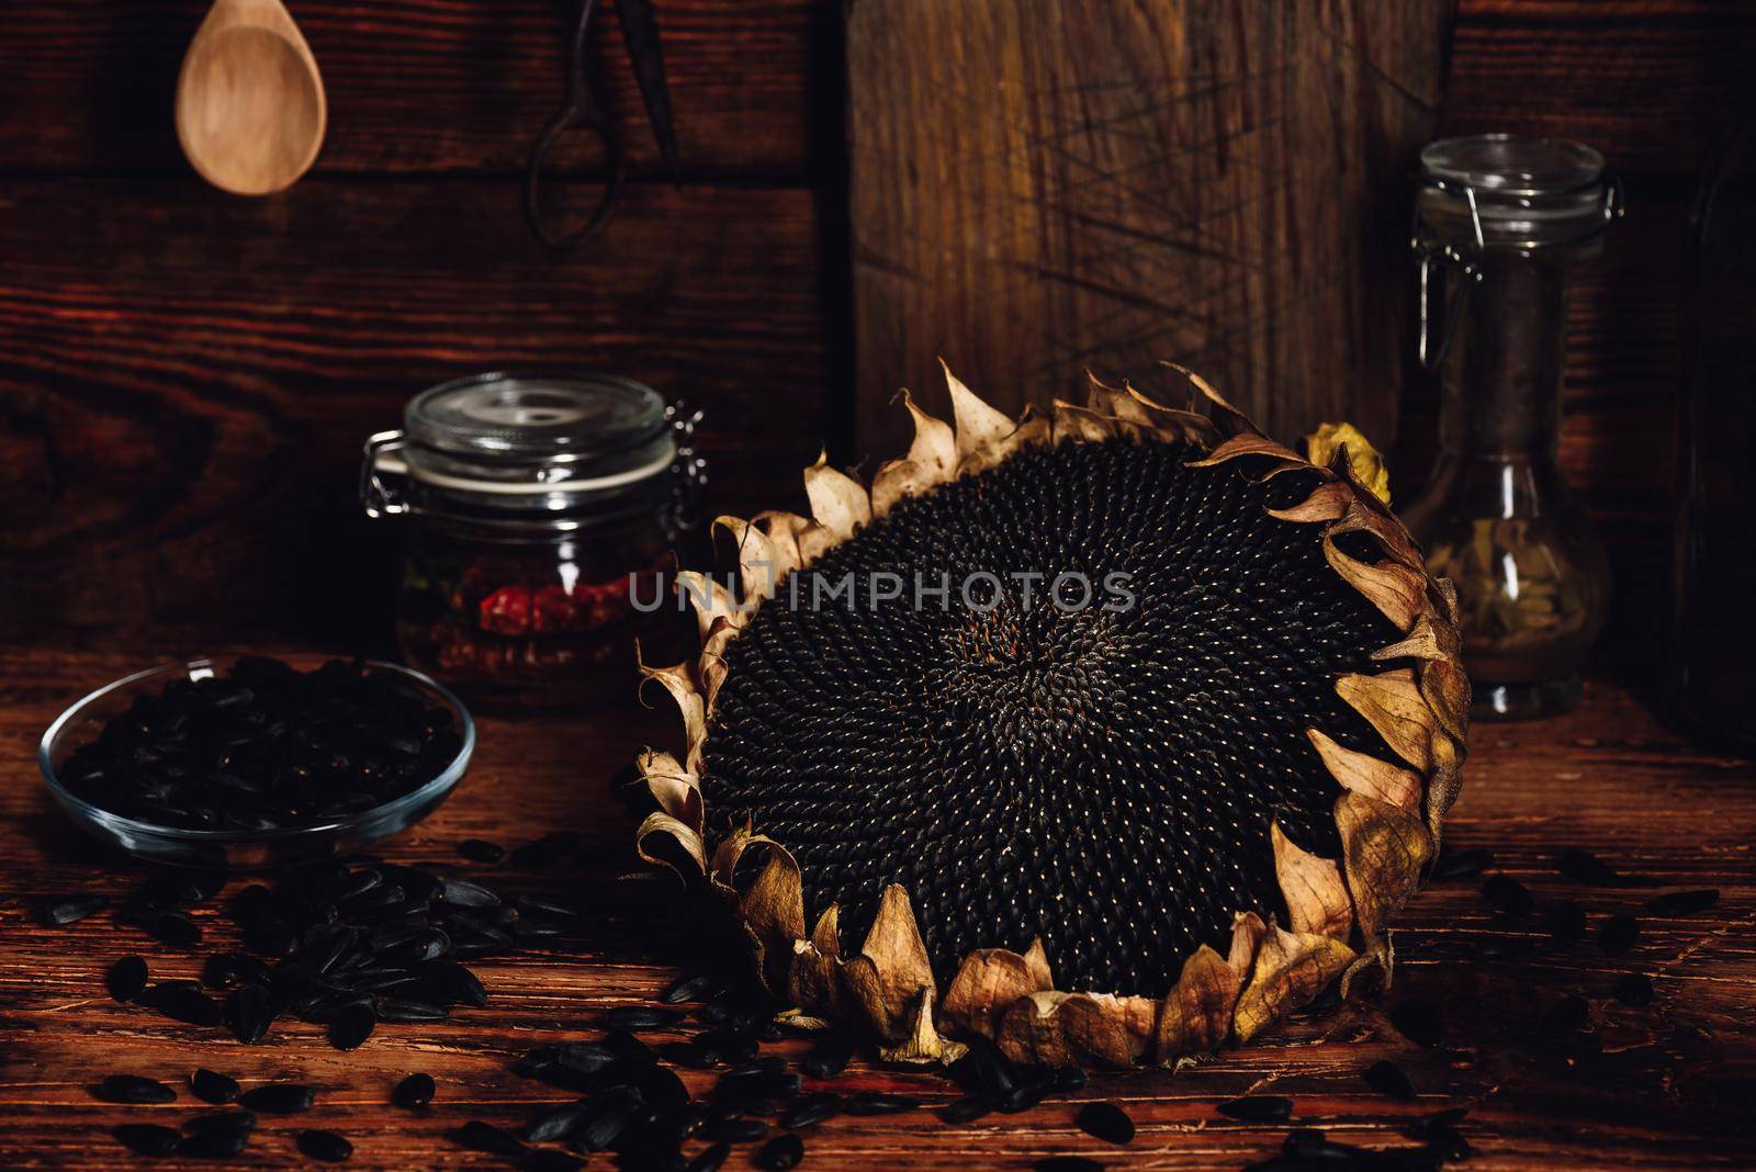
M177 140L202 179L284 191L316 161L327 125L323 74L281 0L214 0L177 77Z

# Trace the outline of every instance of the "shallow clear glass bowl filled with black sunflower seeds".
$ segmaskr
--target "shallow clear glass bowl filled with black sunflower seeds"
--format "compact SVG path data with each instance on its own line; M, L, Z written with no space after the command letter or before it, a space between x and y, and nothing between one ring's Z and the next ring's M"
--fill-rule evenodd
M476 747L469 711L376 660L214 656L125 675L42 735L49 793L156 863L323 858L427 818Z

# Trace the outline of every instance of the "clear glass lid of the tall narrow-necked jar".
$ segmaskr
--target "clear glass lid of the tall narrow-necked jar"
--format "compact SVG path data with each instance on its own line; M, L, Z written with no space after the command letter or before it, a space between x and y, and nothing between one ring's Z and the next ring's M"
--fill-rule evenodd
M1531 135L1442 139L1421 151L1421 218L1479 247L1568 244L1619 214L1603 156Z

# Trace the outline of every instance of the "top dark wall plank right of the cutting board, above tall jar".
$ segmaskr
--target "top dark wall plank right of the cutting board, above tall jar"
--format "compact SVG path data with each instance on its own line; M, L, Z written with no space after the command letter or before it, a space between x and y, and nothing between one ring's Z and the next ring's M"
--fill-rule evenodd
M1445 126L1579 139L1695 175L1742 116L1756 9L1716 0L1457 0Z

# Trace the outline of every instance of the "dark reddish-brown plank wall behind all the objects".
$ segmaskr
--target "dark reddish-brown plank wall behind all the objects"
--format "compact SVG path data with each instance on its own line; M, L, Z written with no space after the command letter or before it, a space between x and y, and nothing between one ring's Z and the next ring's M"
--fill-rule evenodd
M655 181L611 7L599 49L641 182L567 256L516 200L571 4L290 7L328 144L288 195L241 202L170 132L205 0L0 5L0 637L379 630L392 547L355 516L358 444L493 365L613 368L704 405L732 507L792 491L825 432L866 456L841 5L658 0L681 191ZM1716 128L1749 116L1752 33L1752 5L1712 0L1456 4L1442 128L1577 137L1628 181L1575 298L1563 442L1623 632L1663 607L1682 218ZM1405 467L1422 412L1412 391Z

